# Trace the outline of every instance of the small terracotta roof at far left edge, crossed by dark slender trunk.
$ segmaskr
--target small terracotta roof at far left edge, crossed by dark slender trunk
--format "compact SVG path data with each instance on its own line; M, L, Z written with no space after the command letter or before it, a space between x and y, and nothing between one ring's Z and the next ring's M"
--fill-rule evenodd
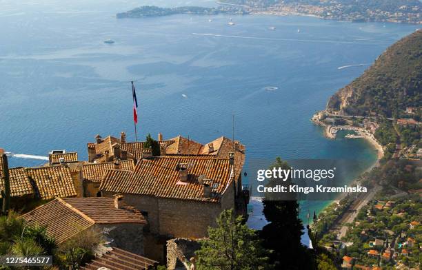
M30 179L23 167L9 169L10 176L10 196L19 197L34 194L34 189L30 183ZM4 189L3 172L1 171L0 157L0 190ZM1 198L1 194L0 194Z

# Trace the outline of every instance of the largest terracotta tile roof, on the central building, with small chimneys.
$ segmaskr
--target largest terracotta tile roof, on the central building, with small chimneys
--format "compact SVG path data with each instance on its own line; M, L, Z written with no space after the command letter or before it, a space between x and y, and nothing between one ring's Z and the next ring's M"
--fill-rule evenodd
M185 183L179 181L179 171L176 169L178 164L188 165L189 179ZM212 180L212 191L216 196L203 196L203 185L198 183L201 174ZM133 173L108 171L100 190L218 202L233 179L232 165L228 159L212 156L161 156L140 160Z

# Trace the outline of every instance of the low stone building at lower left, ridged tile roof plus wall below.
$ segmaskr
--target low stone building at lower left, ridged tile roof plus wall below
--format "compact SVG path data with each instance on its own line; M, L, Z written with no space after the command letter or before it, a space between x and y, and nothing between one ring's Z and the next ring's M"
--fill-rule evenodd
M97 229L112 245L143 255L146 220L119 198L57 198L21 217L29 224L46 227L59 245L82 231Z

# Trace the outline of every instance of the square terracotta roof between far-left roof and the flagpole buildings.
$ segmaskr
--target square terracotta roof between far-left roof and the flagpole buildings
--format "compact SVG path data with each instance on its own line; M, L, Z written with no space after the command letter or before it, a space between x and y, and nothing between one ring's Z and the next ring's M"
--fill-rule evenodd
M26 173L36 185L36 194L43 200L77 196L70 169L66 166L27 168Z

